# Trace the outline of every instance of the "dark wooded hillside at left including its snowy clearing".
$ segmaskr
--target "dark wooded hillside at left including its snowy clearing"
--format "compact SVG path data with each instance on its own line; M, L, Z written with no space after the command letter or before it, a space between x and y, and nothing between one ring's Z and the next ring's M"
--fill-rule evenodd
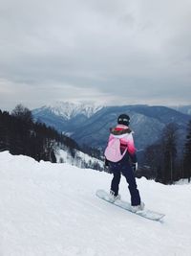
M79 146L68 136L58 133L45 124L34 123L31 111L17 105L14 114L0 110L0 151L24 154L40 161L69 163L83 168L100 170L103 162L95 157L95 151L80 151Z

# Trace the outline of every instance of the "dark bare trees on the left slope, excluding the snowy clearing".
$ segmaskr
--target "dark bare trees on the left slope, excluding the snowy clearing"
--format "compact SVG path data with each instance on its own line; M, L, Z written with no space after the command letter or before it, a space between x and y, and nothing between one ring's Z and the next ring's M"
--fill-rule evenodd
M28 155L37 161L56 162L53 148L58 144L65 145L73 153L79 150L73 139L34 122L29 108L16 105L11 114L0 110L0 151Z

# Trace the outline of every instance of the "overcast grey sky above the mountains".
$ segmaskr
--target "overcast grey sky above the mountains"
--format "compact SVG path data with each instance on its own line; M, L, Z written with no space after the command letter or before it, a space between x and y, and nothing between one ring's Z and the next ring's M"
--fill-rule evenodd
M0 0L0 108L191 104L190 0Z

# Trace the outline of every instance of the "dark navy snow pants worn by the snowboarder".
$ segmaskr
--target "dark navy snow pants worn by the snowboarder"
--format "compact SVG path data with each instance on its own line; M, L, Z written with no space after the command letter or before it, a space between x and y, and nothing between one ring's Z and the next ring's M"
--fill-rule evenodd
M125 176L126 181L129 184L128 188L131 195L131 204L134 206L139 205L140 196L137 188L138 186L136 183L136 177L129 161L127 159L122 159L117 163L110 162L110 170L114 175L112 179L111 190L115 193L115 196L118 195L118 186L122 174Z

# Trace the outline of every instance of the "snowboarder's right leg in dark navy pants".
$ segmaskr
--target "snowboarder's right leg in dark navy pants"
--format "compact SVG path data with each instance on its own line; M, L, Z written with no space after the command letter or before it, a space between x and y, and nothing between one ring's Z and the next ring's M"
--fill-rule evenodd
M122 174L125 176L128 184L129 184L129 192L131 195L131 204L132 206L136 206L140 204L140 196L138 192L138 185L136 183L136 177L134 175L132 167L127 164L122 167Z

